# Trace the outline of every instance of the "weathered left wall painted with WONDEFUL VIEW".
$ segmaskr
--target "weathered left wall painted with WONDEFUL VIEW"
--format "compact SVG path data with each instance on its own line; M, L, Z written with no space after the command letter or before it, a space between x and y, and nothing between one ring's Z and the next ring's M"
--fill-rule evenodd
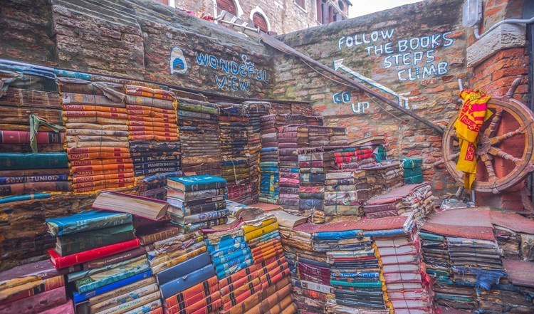
M271 58L257 41L152 0L6 1L1 58L261 98Z

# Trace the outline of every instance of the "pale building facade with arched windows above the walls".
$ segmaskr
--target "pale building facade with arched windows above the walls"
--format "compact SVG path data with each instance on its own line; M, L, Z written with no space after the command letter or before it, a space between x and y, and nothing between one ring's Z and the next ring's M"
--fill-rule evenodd
M162 4L217 16L229 11L262 31L291 33L348 18L349 0L157 0Z

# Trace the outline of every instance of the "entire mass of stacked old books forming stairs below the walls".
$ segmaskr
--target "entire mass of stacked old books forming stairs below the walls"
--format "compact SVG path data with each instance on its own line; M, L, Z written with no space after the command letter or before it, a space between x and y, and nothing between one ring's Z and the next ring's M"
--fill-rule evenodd
M47 260L0 273L0 314L532 313L533 221L436 210L381 135L25 69L0 72L0 206L95 199L46 219Z

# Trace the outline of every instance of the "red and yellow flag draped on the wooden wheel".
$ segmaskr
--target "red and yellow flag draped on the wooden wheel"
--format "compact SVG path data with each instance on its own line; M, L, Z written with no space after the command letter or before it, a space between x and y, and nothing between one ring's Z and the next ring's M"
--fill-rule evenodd
M478 132L484 121L491 117L490 110L486 110L491 96L480 90L462 90L460 97L464 100L458 120L454 122L456 135L460 141L460 158L456 169L465 173L464 187L471 189L476 176L476 144Z

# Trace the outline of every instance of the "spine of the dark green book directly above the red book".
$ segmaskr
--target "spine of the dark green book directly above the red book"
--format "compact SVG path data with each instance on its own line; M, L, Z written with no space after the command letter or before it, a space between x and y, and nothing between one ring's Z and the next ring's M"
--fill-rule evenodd
M100 246L108 246L118 242L128 241L135 239L134 231L119 232L117 234L107 236L85 236L80 241L75 241L67 244L60 244L56 242L56 251L61 256L70 255L73 253L79 253L91 248L98 248Z

